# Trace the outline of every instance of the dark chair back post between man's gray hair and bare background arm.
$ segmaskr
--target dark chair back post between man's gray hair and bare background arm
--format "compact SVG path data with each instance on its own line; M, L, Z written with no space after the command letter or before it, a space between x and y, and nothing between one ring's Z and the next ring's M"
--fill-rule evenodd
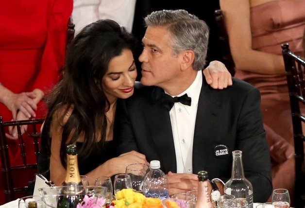
M220 9L215 10L215 19L218 28L218 38L220 42L220 53L223 64L229 70L232 76L235 74L235 64L230 51L229 37L225 26L224 16Z

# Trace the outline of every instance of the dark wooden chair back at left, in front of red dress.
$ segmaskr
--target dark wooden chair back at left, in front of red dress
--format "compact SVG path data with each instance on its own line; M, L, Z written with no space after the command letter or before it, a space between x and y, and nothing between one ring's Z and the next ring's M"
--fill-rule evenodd
M10 202L15 200L15 193L17 192L25 192L26 185L23 187L16 187L14 184L13 174L17 173L17 177L24 177L25 170L33 170L33 173L36 173L37 168L37 158L39 152L38 146L38 139L40 138L40 134L37 133L37 125L42 124L44 119L32 119L32 120L23 120L23 121L7 121L3 122L2 117L0 117L0 157L1 157L1 164L2 164L2 173L3 173L3 184L4 184L4 194L5 194L5 201ZM20 126L28 125L28 132L26 135L29 137L24 138L25 134L21 134ZM22 158L21 165L12 165L9 157L9 143L7 142L8 139L5 136L5 130L9 126L17 126L17 134L19 140L19 148L20 148L20 157ZM31 129L31 132L29 132ZM40 129L38 129L40 131ZM36 156L36 163L28 163L26 158L25 152L25 139L32 139L34 145L34 154ZM22 174L23 173L23 174ZM31 176L31 179L34 178L34 174ZM16 180L16 178L15 178Z

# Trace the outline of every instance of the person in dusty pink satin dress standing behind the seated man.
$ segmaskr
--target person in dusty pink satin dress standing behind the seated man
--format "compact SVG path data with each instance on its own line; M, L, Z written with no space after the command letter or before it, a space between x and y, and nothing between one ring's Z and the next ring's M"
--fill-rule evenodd
M220 0L220 8L236 66L235 77L258 87L261 93L273 160L273 189L288 189L293 202L294 147L281 44L289 43L292 52L303 54L305 1Z

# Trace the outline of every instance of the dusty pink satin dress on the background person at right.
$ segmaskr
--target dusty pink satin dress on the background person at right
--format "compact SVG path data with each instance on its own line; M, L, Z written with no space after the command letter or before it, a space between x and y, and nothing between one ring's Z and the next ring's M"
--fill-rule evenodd
M292 52L303 55L304 8L305 0L274 0L252 7L252 48L282 55L281 44L288 43ZM294 148L286 75L236 69L235 77L260 90L264 127L272 157L273 189L287 188L293 195Z

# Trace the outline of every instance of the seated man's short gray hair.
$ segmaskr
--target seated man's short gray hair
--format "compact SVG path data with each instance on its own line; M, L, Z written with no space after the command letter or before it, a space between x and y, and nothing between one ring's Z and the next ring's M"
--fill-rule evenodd
M145 17L146 26L166 26L173 36L173 55L185 50L195 53L193 68L201 70L205 65L209 27L207 24L189 14L186 10L155 11Z

